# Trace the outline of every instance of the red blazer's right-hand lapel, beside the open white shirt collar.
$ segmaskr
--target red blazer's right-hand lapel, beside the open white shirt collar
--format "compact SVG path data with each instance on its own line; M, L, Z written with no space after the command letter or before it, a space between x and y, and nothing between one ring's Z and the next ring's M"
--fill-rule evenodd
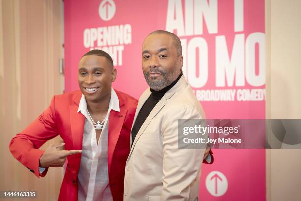
M123 122L127 113L127 110L123 107L124 102L120 94L115 90L118 100L120 112L111 110L109 117L109 138L108 138L108 169L110 173L113 153L116 148L116 144L120 135L120 131L123 126Z

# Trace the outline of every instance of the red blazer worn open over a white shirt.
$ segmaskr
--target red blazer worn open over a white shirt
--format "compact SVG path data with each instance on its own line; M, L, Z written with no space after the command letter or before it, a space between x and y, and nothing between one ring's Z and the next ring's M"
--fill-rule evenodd
M116 90L115 90L116 91ZM120 112L111 110L109 117L108 169L109 185L114 201L123 200L125 162L130 151L130 131L137 100L116 91ZM78 113L82 93L74 91L54 96L50 106L34 122L10 142L13 156L39 177L39 148L48 140L60 135L66 150L82 149L85 117ZM67 168L60 188L61 201L78 200L77 174L81 154L67 157ZM48 168L41 175L44 177Z

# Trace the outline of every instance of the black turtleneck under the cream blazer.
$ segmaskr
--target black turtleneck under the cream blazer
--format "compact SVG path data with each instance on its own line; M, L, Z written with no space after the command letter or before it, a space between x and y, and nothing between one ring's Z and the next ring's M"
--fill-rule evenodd
M155 91L151 89L151 96L148 98L148 100L145 101L144 105L141 107L138 116L136 118L136 121L134 123L133 129L132 129L132 140L134 141L140 127L146 120L146 118L151 113L151 110L156 106L156 104L161 100L161 98L164 96L164 94L170 90L175 84L179 81L181 76L183 75L183 72L178 76L178 78L168 85L167 87L161 89L160 91Z

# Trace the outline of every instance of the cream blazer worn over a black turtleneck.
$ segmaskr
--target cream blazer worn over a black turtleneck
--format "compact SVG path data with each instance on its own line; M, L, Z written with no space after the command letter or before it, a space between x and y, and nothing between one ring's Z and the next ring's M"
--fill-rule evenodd
M141 95L134 122L150 95L150 88ZM205 149L178 149L178 119L205 119L184 76L156 104L131 142L124 201L197 200Z

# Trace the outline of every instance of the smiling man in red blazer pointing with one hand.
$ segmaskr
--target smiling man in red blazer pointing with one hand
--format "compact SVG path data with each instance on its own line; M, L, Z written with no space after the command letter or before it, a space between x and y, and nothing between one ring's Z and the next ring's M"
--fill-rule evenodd
M67 159L59 200L123 200L137 100L114 90L115 78L106 52L86 53L79 62L80 91L54 96L10 142L13 156L37 177L44 177L49 167L62 167ZM57 135L64 143L39 149Z

